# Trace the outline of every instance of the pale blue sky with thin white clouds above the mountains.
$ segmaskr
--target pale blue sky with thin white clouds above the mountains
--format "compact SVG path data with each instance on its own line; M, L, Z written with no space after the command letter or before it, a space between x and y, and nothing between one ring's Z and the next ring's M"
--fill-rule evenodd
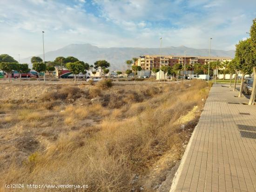
M234 50L256 0L0 0L0 54L16 60L69 44Z

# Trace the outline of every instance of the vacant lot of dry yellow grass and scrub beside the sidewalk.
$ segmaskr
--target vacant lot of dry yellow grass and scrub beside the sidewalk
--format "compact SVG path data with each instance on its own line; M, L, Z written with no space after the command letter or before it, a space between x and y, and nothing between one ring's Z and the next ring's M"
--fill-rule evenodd
M182 157L208 92L203 81L4 85L0 191L8 191L6 183L168 191L165 180Z

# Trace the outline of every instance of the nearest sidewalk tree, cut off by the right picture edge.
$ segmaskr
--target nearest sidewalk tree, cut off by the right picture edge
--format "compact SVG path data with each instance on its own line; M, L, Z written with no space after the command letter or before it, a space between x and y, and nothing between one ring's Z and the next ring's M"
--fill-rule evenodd
M251 48L254 52L254 58L251 63L252 69L253 69L253 85L252 85L252 92L251 97L249 100L249 105L253 105L256 97L256 18L252 21L253 24L250 29L250 36L251 36Z

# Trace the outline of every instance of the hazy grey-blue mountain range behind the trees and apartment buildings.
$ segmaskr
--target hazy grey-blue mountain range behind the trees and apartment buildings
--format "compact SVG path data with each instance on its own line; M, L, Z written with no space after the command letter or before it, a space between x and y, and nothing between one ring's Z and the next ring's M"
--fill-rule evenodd
M209 56L209 49L195 49L186 46L162 47L162 55L186 55L188 56ZM111 64L111 70L126 69L125 60L141 55L160 55L160 48L141 48L141 47L109 47L102 48L91 44L71 44L55 51L45 53L45 60L54 60L56 57L74 56L79 60L93 65L96 60L107 60ZM234 50L211 50L211 56L230 57L235 55ZM36 55L43 58L43 55ZM30 63L31 57L21 60L22 63Z

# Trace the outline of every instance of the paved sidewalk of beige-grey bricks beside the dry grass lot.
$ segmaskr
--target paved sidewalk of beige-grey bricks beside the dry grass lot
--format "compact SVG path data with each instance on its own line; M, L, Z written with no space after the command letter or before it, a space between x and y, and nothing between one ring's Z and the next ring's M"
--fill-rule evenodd
M232 90L211 88L170 192L256 192L256 106Z

